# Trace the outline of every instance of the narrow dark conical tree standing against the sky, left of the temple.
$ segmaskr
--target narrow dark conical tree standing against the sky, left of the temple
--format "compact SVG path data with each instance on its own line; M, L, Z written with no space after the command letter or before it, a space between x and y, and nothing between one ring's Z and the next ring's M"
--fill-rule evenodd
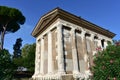
M13 49L14 49L13 58L20 58L21 57L21 48L20 48L21 46L22 46L22 39L18 38L16 40L16 43L13 45Z

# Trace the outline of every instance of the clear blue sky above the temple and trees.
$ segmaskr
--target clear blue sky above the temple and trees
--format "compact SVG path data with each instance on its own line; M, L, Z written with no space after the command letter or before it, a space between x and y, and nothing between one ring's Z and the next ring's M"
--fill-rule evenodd
M19 37L23 39L23 46L34 43L35 38L31 32L38 20L56 7L108 29L117 34L115 40L120 39L120 0L0 0L0 5L17 8L26 17L26 22L19 31L5 36L4 48L10 53Z

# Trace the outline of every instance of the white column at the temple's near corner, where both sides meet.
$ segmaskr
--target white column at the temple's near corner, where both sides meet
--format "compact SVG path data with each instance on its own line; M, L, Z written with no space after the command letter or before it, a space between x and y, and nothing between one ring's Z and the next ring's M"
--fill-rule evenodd
M64 54L63 54L63 34L62 25L57 26L57 46L58 46L58 73L65 73L64 70Z

